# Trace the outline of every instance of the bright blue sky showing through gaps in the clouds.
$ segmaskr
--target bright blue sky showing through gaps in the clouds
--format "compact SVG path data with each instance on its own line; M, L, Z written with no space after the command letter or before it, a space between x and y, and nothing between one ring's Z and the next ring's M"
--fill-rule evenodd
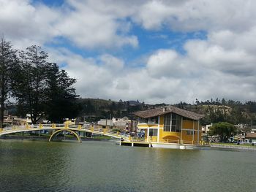
M63 1L53 2L44 1L45 4L51 6L61 5ZM97 48L97 49L84 49L77 47L69 39L65 37L56 37L52 42L45 43L47 47L66 47L73 53L82 55L83 57L97 57L102 53L112 54L116 57L121 57L129 64L132 61L154 53L155 50L159 49L173 49L181 55L186 55L184 50L184 44L189 39L206 39L206 31L193 31L193 32L182 32L182 31L170 31L167 28L161 28L158 30L146 30L141 26L132 26L129 34L136 35L138 38L138 47L124 46L124 47L113 47L113 48Z

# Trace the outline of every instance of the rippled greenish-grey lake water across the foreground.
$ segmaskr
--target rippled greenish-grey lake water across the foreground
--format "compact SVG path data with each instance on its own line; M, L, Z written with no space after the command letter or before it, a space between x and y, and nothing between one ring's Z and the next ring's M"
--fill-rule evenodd
M0 140L0 191L256 191L256 152Z

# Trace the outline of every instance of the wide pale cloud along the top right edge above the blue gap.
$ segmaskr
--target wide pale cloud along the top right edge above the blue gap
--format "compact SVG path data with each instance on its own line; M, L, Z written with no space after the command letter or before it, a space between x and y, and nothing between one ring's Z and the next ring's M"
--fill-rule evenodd
M246 31L255 25L255 6L253 0L146 1L135 13L135 20L148 29Z

